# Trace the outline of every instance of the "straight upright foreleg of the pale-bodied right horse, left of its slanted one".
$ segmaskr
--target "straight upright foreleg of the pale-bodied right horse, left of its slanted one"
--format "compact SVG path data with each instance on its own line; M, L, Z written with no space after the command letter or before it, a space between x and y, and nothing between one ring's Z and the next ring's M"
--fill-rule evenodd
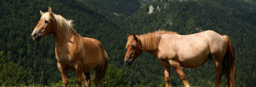
M163 67L163 74L165 74L165 86L170 87L170 67Z

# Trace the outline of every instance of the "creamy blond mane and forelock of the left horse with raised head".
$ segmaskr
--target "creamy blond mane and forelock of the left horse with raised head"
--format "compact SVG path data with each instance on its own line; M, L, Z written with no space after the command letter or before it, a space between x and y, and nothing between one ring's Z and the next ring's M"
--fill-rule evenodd
M70 30L73 30L73 20L67 20L58 14L54 14L54 17L55 17L54 19L56 20L56 26L58 29L66 30L67 32L69 32ZM42 14L41 19L46 19L47 21L49 21L50 19L53 19L53 18L49 16L49 12L46 12Z

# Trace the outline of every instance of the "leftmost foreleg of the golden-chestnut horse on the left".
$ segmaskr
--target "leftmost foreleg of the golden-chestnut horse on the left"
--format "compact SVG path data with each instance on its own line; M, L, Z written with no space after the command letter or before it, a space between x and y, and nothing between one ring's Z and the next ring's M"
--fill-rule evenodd
M65 70L62 66L61 63L57 62L59 72L61 72L61 77L62 77L62 82L63 86L67 86L69 84L69 78L67 77L67 70Z

